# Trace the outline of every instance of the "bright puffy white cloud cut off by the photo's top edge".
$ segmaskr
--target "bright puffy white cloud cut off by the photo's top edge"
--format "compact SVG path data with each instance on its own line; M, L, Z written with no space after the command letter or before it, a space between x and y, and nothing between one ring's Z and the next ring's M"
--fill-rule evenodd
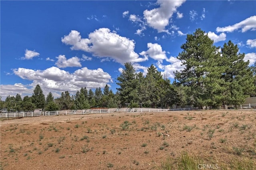
M158 30L158 32L166 32L165 27L168 26L172 14L176 9L182 5L185 0L158 0L156 4L160 5L159 8L152 10L145 10L143 12L144 19L148 26Z

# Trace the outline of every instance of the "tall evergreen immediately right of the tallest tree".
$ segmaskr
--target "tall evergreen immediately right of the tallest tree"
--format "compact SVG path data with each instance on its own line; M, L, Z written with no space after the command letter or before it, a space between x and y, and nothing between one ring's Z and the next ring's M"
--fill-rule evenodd
M249 61L244 61L244 53L238 53L237 45L231 41L224 43L221 49L223 66L222 79L225 81L224 104L238 105L244 103L254 91L254 80Z

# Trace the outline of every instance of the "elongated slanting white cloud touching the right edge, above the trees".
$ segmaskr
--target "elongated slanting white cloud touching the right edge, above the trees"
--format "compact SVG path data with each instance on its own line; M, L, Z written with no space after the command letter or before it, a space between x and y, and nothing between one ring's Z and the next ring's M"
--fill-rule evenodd
M236 23L232 26L226 26L226 27L217 27L217 32L233 32L235 30L238 30L242 28L242 32L246 32L248 30L256 30L256 16L251 16L249 18L246 18L245 20Z

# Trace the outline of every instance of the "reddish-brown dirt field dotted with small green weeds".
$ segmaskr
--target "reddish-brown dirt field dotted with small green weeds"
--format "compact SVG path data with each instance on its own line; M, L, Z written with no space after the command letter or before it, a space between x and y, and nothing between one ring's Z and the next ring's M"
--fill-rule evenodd
M256 167L255 110L29 117L0 128L6 170L162 169L185 152L218 169L234 160Z

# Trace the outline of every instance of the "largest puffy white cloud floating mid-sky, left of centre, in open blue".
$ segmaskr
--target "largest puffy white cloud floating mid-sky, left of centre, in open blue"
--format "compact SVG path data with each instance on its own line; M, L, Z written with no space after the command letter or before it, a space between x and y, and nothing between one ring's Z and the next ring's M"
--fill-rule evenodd
M96 57L110 57L114 61L124 64L126 62L141 62L148 58L140 58L134 52L134 40L110 32L108 28L100 28L89 34L89 38L81 38L78 31L72 30L68 36L62 38L71 49L91 52Z

